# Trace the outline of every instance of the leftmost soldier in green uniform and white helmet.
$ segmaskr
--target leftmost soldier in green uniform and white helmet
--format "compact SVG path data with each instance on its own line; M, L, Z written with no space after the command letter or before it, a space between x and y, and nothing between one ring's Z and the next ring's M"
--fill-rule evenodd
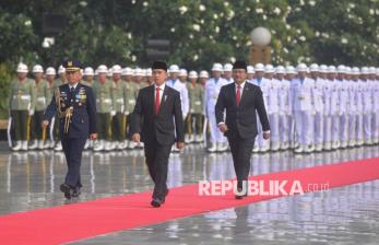
M10 116L15 131L13 151L27 150L27 127L29 116L34 114L35 90L34 81L27 79L27 66L19 63L17 79L11 83L9 100Z

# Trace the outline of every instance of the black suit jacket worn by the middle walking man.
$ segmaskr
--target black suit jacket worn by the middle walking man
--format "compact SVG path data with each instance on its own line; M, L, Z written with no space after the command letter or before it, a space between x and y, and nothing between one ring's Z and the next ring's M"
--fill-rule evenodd
M154 85L146 86L139 92L131 115L131 135L141 133L141 141L145 143L152 143L154 139L161 145L173 144L175 141L183 142L185 130L179 92L165 85L159 113L155 115L154 88Z

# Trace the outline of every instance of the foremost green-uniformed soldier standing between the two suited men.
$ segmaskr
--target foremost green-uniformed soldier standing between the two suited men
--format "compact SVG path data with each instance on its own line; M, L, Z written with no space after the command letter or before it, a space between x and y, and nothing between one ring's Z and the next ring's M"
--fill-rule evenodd
M190 112L187 116L188 142L202 141L203 120L202 113L204 107L204 89L198 83L198 72L189 73L190 82L187 90L190 101ZM194 136L196 135L196 136Z

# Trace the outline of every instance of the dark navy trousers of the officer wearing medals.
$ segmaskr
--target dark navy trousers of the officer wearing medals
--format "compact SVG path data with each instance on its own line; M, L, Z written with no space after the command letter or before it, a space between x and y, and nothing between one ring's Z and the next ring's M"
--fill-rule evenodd
M82 165L82 152L86 138L66 138L61 139L62 148L66 155L68 172L64 184L72 188L81 188L80 167Z

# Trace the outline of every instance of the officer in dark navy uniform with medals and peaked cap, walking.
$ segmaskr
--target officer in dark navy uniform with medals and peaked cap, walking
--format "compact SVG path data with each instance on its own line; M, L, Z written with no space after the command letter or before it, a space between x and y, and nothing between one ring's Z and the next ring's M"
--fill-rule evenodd
M92 89L80 83L82 75L80 61L63 62L68 84L59 86L45 112L44 127L58 112L59 133L62 142L68 173L60 190L67 199L80 195L81 161L86 139L97 138L96 105Z

